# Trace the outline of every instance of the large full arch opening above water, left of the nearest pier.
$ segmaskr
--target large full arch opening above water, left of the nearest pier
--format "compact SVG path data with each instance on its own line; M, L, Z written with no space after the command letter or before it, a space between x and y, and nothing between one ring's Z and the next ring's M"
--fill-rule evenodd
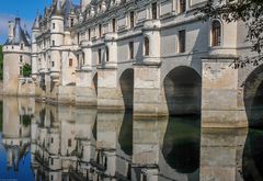
M190 67L176 67L163 81L169 115L201 113L201 77Z

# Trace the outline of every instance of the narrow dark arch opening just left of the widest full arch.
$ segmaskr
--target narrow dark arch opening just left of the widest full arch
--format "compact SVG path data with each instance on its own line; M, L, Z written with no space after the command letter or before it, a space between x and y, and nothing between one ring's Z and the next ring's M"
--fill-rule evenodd
M126 110L133 110L134 104L134 69L125 70L119 78L121 90L123 93Z

